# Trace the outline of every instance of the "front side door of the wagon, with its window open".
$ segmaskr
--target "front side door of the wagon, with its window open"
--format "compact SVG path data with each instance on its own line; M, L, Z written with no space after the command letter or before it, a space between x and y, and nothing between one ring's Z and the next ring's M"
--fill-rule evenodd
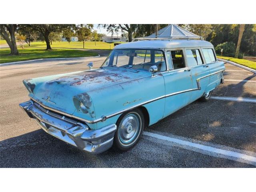
M190 102L192 74L184 60L184 50L177 49L166 52L172 58L169 71L162 73L165 82L164 117L172 114Z

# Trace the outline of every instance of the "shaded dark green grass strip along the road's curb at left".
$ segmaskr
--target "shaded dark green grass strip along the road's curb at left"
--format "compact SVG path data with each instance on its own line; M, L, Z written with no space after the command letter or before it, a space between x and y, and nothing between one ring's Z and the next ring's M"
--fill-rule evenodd
M0 63L26 61L40 58L72 58L72 57L89 57L98 56L98 54L75 49L53 49L44 50L43 48L18 48L19 55L11 56L10 48L0 49Z

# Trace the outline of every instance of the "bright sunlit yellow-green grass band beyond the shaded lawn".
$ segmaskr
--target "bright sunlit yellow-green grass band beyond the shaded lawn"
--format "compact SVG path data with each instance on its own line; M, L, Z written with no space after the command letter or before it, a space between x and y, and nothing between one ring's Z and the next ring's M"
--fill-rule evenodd
M95 45L96 43L96 45ZM121 42L124 43L124 42ZM29 47L28 44L25 44L25 47ZM30 47L40 47L40 48L46 48L45 42L32 42ZM65 41L57 41L52 42L51 45L52 48L83 48L83 42L65 42ZM103 50L111 50L114 48L114 43L106 43L101 41L87 41L84 44L85 49L103 49Z

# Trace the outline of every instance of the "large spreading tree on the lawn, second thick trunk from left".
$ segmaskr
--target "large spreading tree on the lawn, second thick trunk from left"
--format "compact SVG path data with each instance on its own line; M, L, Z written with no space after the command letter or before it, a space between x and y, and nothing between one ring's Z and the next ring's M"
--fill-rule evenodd
M32 30L35 30L44 36L46 42L46 50L51 50L49 35L52 32L62 32L66 28L75 27L74 24L29 24L23 25Z

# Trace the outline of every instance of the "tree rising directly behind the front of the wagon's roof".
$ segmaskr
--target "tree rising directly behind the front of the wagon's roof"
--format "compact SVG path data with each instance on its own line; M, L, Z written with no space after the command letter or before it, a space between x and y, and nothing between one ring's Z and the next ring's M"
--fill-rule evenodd
M132 35L136 31L138 25L137 24L101 24L104 28L107 28L108 32L114 34L114 32L118 32L121 30L122 33L128 32L128 41L132 41Z

